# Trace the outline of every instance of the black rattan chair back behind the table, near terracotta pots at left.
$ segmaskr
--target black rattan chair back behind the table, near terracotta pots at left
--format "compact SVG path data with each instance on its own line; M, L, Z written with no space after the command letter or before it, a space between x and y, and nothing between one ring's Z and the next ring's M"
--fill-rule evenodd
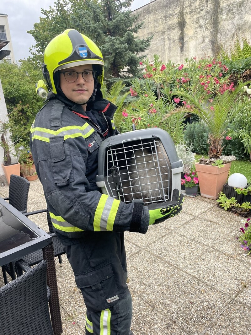
M11 175L9 197L3 199L9 200L9 204L19 210L19 212L26 213L29 188L30 182L27 179L16 175Z

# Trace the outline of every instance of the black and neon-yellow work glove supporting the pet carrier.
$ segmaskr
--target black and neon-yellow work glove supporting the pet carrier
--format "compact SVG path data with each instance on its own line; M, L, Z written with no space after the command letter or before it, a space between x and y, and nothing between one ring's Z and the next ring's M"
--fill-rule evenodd
M173 190L173 200L164 203L154 203L148 206L149 209L149 225L165 221L169 217L179 214L182 209L184 195L177 189Z

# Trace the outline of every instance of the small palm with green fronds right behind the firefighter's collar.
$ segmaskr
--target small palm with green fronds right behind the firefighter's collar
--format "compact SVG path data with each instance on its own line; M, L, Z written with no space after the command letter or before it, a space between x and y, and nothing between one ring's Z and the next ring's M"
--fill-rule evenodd
M109 100L112 104L117 106L117 110L114 115L115 125L119 125L123 116L122 111L126 107L125 99L130 93L129 90L123 92L123 88L126 85L122 80L118 80L111 85L111 88L108 90L105 83L102 84L101 92L104 99Z

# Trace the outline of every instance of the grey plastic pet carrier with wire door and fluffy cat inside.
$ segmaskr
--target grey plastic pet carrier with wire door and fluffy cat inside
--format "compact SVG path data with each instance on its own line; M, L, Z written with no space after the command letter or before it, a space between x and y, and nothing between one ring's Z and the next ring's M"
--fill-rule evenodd
M96 184L104 194L129 203L171 201L181 190L182 160L170 135L160 129L135 130L103 141Z

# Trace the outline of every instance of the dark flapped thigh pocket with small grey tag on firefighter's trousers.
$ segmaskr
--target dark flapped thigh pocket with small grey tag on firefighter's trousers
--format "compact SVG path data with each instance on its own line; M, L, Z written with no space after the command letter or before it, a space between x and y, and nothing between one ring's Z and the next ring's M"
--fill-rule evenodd
M75 281L90 313L110 308L121 298L110 264L87 274L75 275Z

